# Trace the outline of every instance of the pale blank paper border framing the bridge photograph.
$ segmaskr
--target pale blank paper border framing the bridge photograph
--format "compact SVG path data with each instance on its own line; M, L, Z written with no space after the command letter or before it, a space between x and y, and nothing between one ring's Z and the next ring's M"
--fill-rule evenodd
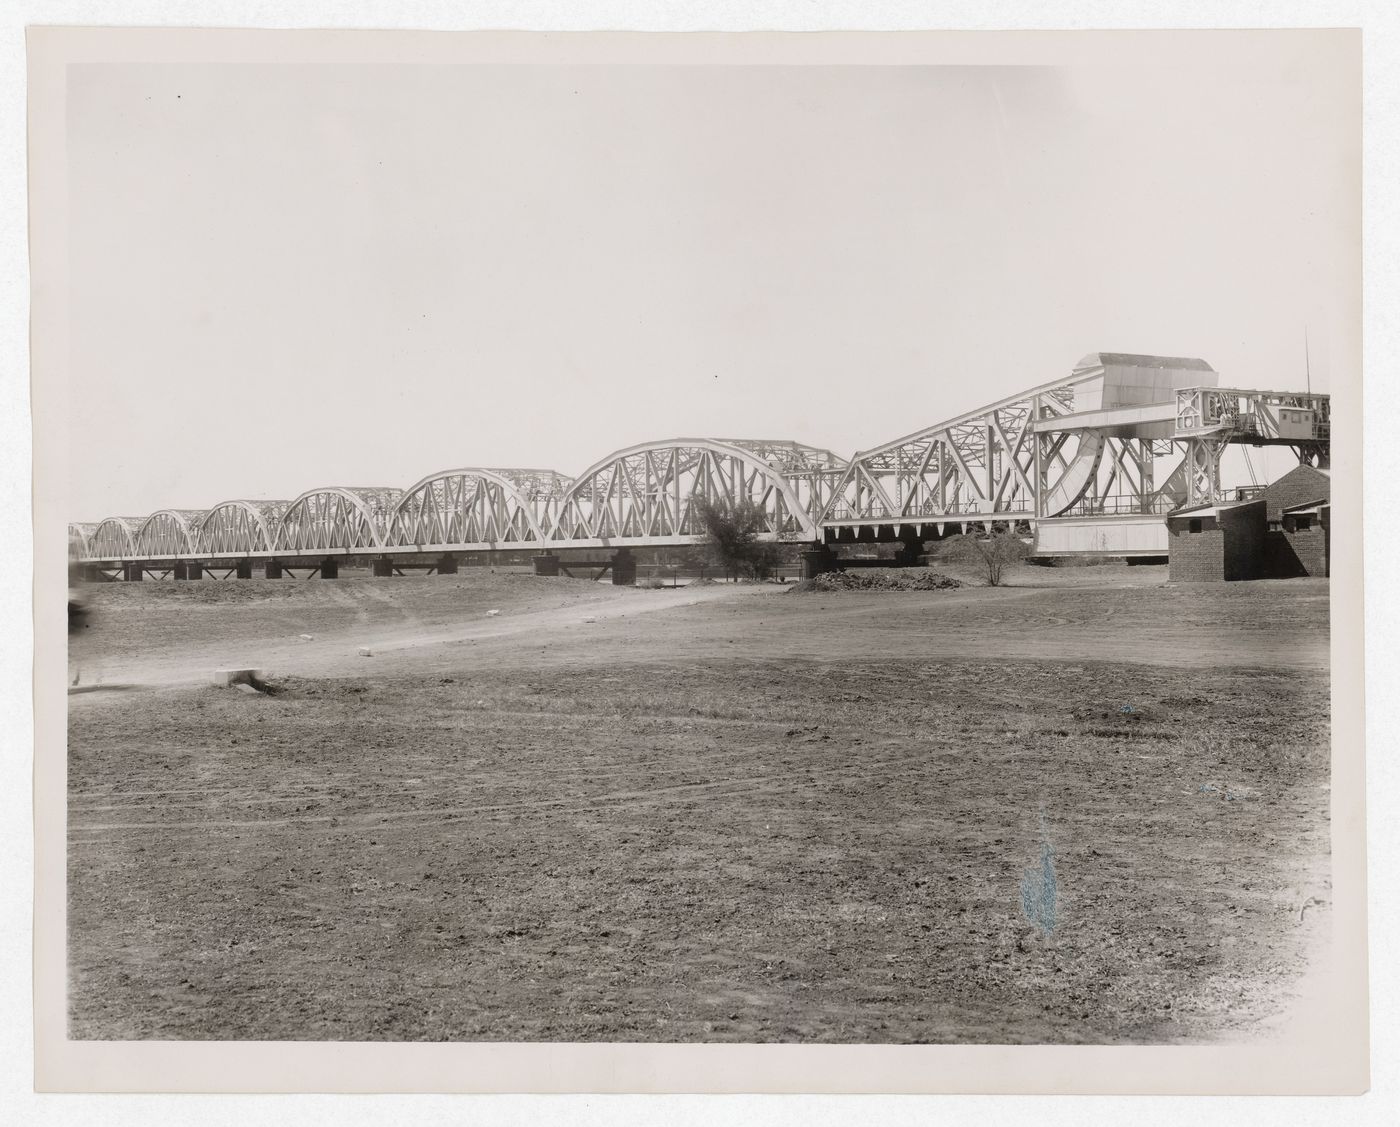
M1358 77L1355 31L406 32L34 28L29 202L35 529L35 1082L70 1092L1093 1092L1334 1093L1368 1085L1361 349L1333 360L1333 958L1289 1036L1249 1046L802 1046L70 1042L64 1036L67 192L64 73L83 62L588 64L1114 64L1326 43ZM1266 42L1267 41L1267 42ZM1357 169L1359 176L1359 168ZM1361 319L1361 185L1338 235ZM1345 244L1345 245L1344 245Z

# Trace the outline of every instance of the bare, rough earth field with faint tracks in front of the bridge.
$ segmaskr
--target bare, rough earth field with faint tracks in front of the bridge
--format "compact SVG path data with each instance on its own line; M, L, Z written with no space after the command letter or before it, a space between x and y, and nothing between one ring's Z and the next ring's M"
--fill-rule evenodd
M137 687L69 699L70 1035L1267 1033L1330 924L1327 584L1163 571L87 587Z

